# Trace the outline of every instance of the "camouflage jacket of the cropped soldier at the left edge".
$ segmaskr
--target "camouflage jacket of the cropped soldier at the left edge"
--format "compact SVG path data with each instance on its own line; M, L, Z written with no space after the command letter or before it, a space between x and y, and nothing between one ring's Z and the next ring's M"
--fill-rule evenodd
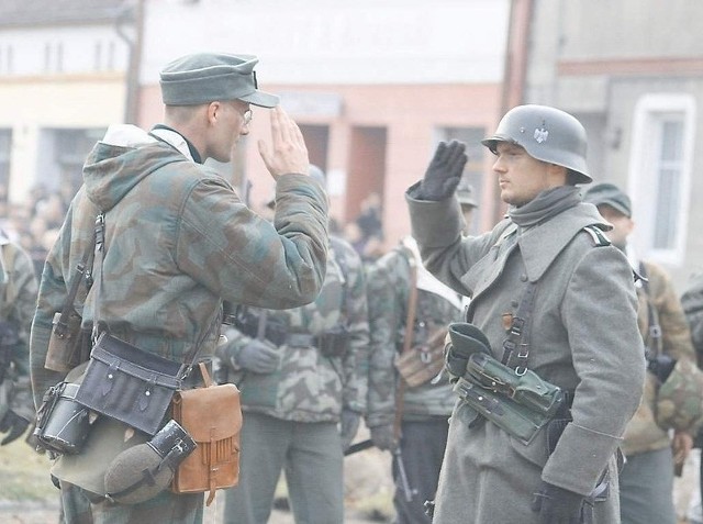
M0 233L1 235L1 233ZM36 306L36 277L29 255L0 237L0 348L9 354L4 380L0 383L0 420L8 409L27 421L34 419L30 387L30 326ZM3 360L5 355L1 357Z

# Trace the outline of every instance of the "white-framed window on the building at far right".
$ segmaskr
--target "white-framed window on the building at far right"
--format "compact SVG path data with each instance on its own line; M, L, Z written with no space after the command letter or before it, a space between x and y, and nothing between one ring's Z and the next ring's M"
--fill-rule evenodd
M628 192L643 257L683 263L695 102L688 94L648 94L635 108Z

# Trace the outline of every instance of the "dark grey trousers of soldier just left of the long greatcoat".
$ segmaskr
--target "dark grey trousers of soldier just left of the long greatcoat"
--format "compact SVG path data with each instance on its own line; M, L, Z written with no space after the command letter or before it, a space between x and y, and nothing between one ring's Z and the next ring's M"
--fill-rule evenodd
M403 422L401 426L400 450L408 478L406 493L400 479L399 457L393 457L393 480L395 493L397 524L429 524L423 504L434 500L439 481L439 469L447 446L449 432L448 416L436 416L422 422ZM411 500L408 500L408 499Z

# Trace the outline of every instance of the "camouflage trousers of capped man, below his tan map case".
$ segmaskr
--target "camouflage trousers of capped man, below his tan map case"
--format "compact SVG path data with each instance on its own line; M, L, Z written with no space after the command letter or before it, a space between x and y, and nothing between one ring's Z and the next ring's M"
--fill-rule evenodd
M177 495L166 490L141 504L124 505L93 503L86 490L63 481L60 487L60 524L202 524L202 494Z

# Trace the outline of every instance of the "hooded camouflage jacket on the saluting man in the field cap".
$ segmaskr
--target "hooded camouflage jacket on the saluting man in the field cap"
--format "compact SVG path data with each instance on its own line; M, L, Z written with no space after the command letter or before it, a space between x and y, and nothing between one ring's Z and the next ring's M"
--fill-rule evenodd
M52 319L66 300L77 264L104 213L100 321L145 352L183 361L191 349L214 354L222 300L267 308L312 301L324 278L327 200L303 175L277 182L274 223L250 211L211 168L134 126L130 145L99 142L83 167L40 286L30 347L38 405L63 374L44 367ZM110 133L110 132L109 132ZM96 286L76 311L93 321Z

